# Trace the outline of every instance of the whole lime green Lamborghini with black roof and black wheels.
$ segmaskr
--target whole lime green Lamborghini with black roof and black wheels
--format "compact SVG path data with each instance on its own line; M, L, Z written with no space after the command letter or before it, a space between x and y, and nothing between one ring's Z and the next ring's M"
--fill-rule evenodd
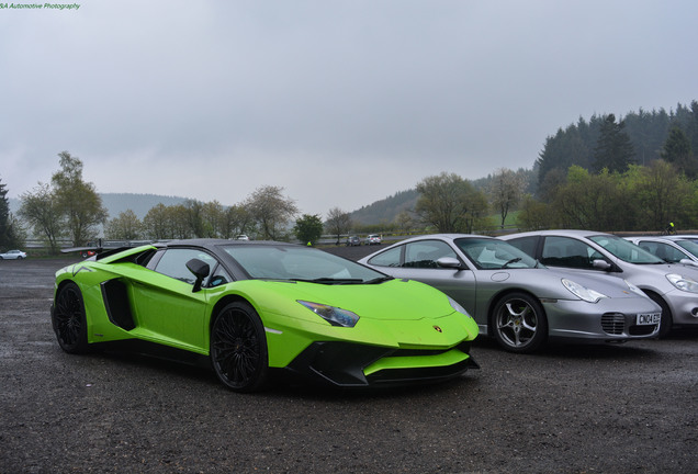
M288 372L336 386L452 379L477 325L438 290L282 242L196 239L115 249L56 273L69 353L133 340L209 357L237 392Z

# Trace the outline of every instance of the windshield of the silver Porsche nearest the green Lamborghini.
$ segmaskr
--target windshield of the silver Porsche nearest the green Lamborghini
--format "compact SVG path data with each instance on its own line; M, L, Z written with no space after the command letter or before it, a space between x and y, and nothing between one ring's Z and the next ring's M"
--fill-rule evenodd
M480 270L542 268L536 259L504 240L462 238L455 245Z

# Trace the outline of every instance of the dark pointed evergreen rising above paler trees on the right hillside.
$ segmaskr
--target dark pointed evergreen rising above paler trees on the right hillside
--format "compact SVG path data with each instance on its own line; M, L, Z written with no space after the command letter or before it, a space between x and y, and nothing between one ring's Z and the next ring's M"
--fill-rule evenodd
M604 117L600 136L594 149L594 171L608 169L624 172L634 162L634 148L624 132L624 122L616 122L616 115Z

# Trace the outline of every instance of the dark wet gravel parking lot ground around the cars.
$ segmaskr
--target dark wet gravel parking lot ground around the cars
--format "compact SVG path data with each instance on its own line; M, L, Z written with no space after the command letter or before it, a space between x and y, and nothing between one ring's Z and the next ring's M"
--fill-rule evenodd
M0 261L0 474L698 470L698 331L534 356L482 339L482 369L442 385L240 395L196 365L64 353L48 308L67 262Z

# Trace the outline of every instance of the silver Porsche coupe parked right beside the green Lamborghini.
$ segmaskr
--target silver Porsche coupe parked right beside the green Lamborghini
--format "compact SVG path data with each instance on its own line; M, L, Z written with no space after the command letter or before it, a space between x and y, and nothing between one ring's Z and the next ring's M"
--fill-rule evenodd
M532 352L549 338L622 342L658 331L661 308L632 284L545 269L492 237L414 237L359 262L436 286L513 352Z

